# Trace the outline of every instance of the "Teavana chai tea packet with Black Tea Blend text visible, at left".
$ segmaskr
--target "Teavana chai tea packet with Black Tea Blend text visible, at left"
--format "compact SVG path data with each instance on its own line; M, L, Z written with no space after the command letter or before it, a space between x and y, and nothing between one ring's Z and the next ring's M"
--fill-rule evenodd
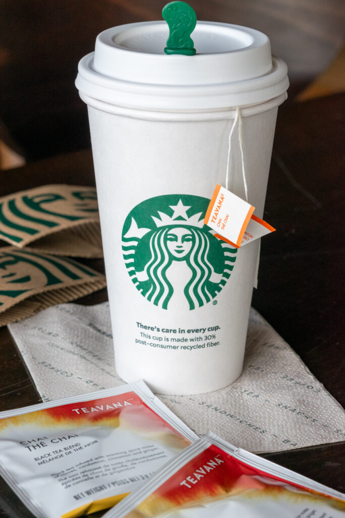
M0 413L0 474L37 518L113 506L197 436L143 381Z

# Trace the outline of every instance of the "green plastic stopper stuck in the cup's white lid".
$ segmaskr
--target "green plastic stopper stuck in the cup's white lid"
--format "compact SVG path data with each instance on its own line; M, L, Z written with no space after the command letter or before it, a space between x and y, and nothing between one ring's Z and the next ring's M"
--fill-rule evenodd
M197 24L197 15L186 2L170 2L163 7L162 16L169 26L166 54L194 55L194 42L190 35Z

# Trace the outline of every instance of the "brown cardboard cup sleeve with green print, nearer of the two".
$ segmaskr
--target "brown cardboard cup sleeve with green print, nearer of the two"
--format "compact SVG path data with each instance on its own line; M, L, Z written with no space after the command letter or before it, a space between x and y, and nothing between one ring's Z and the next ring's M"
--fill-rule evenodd
M0 326L106 285L104 275L67 257L0 248Z

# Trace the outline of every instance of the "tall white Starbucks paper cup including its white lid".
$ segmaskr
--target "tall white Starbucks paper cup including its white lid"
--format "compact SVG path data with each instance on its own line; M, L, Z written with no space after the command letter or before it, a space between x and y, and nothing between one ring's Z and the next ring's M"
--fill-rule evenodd
M241 374L258 241L234 249L203 220L225 186L262 217L287 67L247 27L198 22L197 54L166 55L165 22L102 32L79 63L88 106L116 370L162 394ZM242 152L241 152L242 151Z

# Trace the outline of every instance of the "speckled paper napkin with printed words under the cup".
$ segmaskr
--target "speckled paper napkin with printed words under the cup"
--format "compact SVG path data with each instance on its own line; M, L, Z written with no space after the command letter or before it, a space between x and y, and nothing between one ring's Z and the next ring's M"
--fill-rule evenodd
M108 303L61 304L9 326L44 401L122 385ZM225 389L159 398L197 434L211 430L251 452L343 440L345 412L254 309L244 370Z

